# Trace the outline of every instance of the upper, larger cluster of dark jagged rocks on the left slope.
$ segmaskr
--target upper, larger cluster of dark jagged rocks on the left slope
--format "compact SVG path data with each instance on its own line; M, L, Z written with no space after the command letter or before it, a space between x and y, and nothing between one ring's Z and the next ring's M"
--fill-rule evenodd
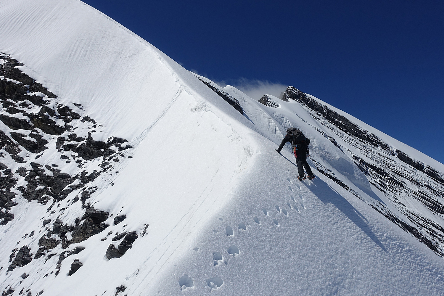
M15 173L26 181L22 182L26 185L17 189L28 201L37 200L45 204L51 198L63 200L73 190L83 188L85 184L110 170L110 160L118 162L121 151L132 148L130 145L123 145L128 142L123 138L111 137L107 142L95 141L91 134L95 132L97 122L89 116L79 114L83 110L81 104L72 103L70 107L58 103L55 94L16 68L23 64L5 55L0 55L0 61L0 103L3 107L0 120L10 129L17 130L0 130L0 148L4 149L4 152L0 152L0 157L4 158L4 154L9 154L15 162L24 163ZM83 124L83 130L87 130L87 134L74 133L75 128L70 124L75 122ZM55 139L53 136L59 137L49 142L50 139ZM63 174L55 168L56 164L43 166L35 161L53 145L60 153L60 159L65 159L67 163L74 162L79 168L77 173ZM22 151L28 151L26 157L29 157L29 152L39 155L27 158L32 159L27 162L18 155ZM103 161L93 173L87 174L81 170L85 161L99 157ZM0 189L4 189L0 191L0 219L3 219L0 224L4 225L14 218L9 213L11 207L16 205L13 202L16 193L11 192L11 188L18 180L14 178L14 173L8 171L7 166L0 166L0 170L4 170L1 176L8 175L0 176ZM76 180L80 180L80 183L75 183ZM81 193L82 202L87 197L89 193ZM76 198L79 200L80 195Z

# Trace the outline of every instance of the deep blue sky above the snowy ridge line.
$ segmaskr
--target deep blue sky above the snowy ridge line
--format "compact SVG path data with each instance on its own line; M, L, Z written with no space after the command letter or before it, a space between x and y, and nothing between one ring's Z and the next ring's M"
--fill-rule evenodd
M188 70L293 85L444 163L442 0L85 2Z

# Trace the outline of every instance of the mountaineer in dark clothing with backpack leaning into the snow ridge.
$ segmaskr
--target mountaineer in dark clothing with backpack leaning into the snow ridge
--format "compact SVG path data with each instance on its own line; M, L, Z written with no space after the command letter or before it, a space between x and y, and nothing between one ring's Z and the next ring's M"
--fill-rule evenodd
M304 168L307 171L307 177L312 180L314 174L307 163L307 150L310 144L310 139L305 138L300 130L290 127L287 129L287 134L282 140L281 145L276 149L277 153L281 153L286 142L290 142L293 146L293 154L296 157L297 173L299 174L297 178L299 181L305 179Z

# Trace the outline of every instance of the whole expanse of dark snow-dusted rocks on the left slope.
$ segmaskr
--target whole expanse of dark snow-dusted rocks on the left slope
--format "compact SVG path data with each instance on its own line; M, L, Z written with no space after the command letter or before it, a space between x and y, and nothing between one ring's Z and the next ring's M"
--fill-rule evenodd
M96 141L95 135L99 134L103 125L88 116L81 104L57 98L20 68L15 68L17 66L23 64L0 54L0 121L4 123L0 130L0 225L14 222L10 211L17 206L17 197L48 205L45 207L47 213L37 221L37 229L22 237L24 241L38 240L34 242L38 243L38 249L33 251L35 255L26 245L12 247L16 249L4 267L11 271L29 263L54 264L54 272L58 275L64 259L85 249L78 245L72 249L71 244L85 241L111 224L106 223L107 212L94 209L88 202L98 189L91 183L101 174L118 173L112 170L114 164L126 158L125 150L132 146L128 145L127 139L117 137ZM74 203L77 209L84 209L84 214L73 224L71 220L64 220L66 216L63 213ZM118 224L125 217L113 217L113 222ZM35 238L35 234L39 237ZM28 237L33 240L28 240ZM131 248L136 237L135 233L123 233L116 241L119 256ZM12 243L15 245L15 242ZM32 262L34 260L37 261ZM82 263L75 260L68 275L81 266ZM41 268L27 270L35 276ZM28 278L28 271L20 272L23 273L20 280ZM43 277L50 274L45 273ZM29 278L24 282L27 281ZM9 287L3 288L4 293L10 292L7 290ZM22 289L20 295L27 293L31 295L29 289L25 292Z

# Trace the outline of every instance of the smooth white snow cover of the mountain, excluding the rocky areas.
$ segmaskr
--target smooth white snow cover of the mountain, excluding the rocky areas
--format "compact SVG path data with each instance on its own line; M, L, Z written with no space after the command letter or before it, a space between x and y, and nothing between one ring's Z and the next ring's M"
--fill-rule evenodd
M279 101L274 109L225 87L242 115L151 44L79 1L0 1L0 13L1 52L24 63L21 70L59 103L81 103L103 125L92 134L95 140L121 137L134 146L111 175L91 184L99 190L87 203L114 214L110 226L72 244L70 250L86 249L63 260L58 276L51 272L60 245L50 252L56 256L6 272L9 255L23 245L35 254L46 231L42 221L60 215L73 223L84 209L77 201L51 214L51 201L28 202L17 192L15 218L0 226L0 283L14 290L10 295L24 288L22 294L31 289L32 296L111 296L121 285L121 296L444 295L443 260L369 206L366 201L379 193L313 129L324 127L299 103ZM351 120L444 171L439 162ZM313 182L297 181L289 148L282 155L274 151L288 126L312 139L313 160L349 172L347 182L362 200L317 170ZM43 164L51 165L51 150L45 151ZM58 168L69 173L67 166ZM119 213L127 218L113 225ZM23 238L32 230L33 237ZM123 257L107 260L113 236L107 233L123 230L139 237ZM77 258L83 266L67 276Z

